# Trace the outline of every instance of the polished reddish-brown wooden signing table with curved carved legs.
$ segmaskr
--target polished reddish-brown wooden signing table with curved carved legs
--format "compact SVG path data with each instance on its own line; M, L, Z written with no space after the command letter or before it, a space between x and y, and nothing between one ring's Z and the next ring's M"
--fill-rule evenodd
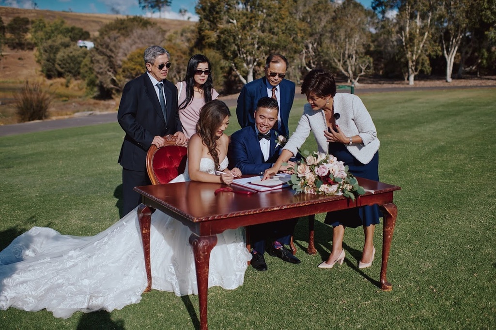
M208 329L208 267L210 251L217 244L216 234L226 229L236 229L252 224L373 204L378 204L384 214L380 286L382 290L391 290L392 286L386 279L386 271L398 213L396 205L393 203L393 192L401 188L363 178L358 178L358 181L361 186L373 190L374 193L367 192L366 195L352 201L343 196L295 195L295 192L289 188L258 192L253 195L234 192L220 192L215 195L215 190L226 187L226 185L194 181L135 187L134 190L142 195L142 204L138 208L138 218L148 278L148 286L145 291L151 289L152 283L150 272L150 218L152 210L150 208L158 209L174 217L192 231L189 242L193 247L196 266L200 329ZM233 188L234 190L238 189L234 186Z

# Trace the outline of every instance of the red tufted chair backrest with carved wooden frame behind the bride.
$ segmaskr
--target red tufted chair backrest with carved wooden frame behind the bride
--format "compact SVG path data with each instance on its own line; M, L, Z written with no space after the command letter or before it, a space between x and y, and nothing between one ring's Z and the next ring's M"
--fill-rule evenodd
M177 144L173 135L164 136L165 146L154 145L146 154L146 170L152 184L169 183L186 169L187 142Z

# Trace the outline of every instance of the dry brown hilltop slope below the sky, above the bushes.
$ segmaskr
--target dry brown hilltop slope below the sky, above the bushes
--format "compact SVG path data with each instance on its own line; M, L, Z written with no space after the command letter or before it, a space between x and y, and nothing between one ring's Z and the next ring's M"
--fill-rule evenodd
M125 18L124 15L108 14L89 14L67 11L52 11L41 9L21 9L13 7L0 6L0 17L6 25L15 16L27 17L30 20L35 18L44 18L47 21L53 21L61 17L67 25L74 25L88 31L92 37L98 36L98 30L105 24L112 22L116 18ZM193 26L196 23L190 21L181 21L175 19L150 18L166 31L179 30L183 27Z

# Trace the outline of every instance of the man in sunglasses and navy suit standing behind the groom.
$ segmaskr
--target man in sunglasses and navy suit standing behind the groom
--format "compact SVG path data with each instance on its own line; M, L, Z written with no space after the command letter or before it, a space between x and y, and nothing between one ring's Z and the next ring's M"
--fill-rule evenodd
M295 83L284 79L288 60L280 54L272 54L265 61L265 76L246 84L238 97L236 115L240 126L254 124L254 112L258 100L269 97L277 100L279 114L274 128L283 136L289 136L289 111L295 99Z

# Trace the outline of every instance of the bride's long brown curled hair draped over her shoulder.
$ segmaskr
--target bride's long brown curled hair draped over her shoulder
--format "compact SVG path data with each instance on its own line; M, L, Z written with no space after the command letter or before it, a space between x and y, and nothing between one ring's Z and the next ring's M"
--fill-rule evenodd
M212 100L201 108L200 119L196 123L196 133L207 147L217 170L219 169L219 153L217 151L219 137L215 133L219 130L226 116L231 116L231 111L226 104L220 100Z

